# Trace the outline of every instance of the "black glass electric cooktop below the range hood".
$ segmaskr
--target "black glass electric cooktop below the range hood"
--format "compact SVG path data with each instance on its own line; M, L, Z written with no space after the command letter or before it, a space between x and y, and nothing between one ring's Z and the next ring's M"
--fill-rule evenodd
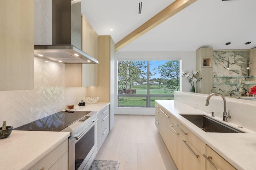
M42 119L38 119L13 130L22 131L62 131L72 123L81 119L91 111L60 111Z

